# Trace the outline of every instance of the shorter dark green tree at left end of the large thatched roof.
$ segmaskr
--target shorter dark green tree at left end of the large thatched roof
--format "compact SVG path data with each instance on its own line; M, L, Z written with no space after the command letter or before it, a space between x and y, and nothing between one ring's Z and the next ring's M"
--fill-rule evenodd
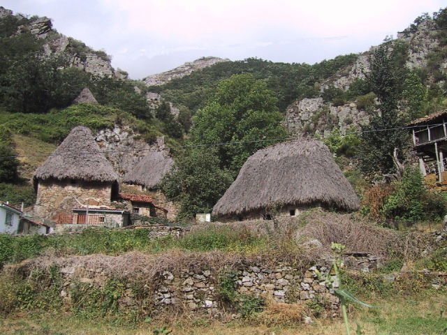
M170 200L180 203L179 217L210 213L233 181L228 170L221 170L216 149L194 148L179 155L161 189Z

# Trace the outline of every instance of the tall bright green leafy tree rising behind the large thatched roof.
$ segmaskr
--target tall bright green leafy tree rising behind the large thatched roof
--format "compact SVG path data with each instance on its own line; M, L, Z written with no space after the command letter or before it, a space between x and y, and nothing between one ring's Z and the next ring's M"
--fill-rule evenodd
M193 142L230 143L219 146L217 154L222 168L237 173L255 151L286 137L276 103L265 82L233 75L219 83L212 101L193 118Z

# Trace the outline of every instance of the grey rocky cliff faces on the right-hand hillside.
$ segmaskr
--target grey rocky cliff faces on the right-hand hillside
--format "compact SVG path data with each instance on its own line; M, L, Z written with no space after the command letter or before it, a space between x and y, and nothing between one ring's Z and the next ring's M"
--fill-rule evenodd
M441 46L437 35L437 25L430 17L411 24L390 40L390 49L399 48L404 58L404 66L409 70L425 71L427 87L434 80L434 71L445 75L447 73L447 47ZM369 51L359 55L356 62L339 70L318 85L318 90L323 94L326 89L342 89L348 91L356 80L365 80L370 71L369 57L376 49L373 46ZM441 57L441 60L438 58ZM434 66L432 59L438 59ZM432 68L427 69L430 64ZM333 128L339 128L345 133L351 126L367 124L369 114L364 109L357 107L358 101L346 101L343 105L333 105L324 102L323 98L304 98L294 101L286 109L286 126L293 135L313 135L314 133L328 134ZM374 106L372 106L373 110Z

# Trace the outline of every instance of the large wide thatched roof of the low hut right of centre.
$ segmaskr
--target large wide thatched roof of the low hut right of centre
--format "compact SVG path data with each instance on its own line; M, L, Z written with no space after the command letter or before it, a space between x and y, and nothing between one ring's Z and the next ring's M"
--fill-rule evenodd
M317 140L295 140L249 157L212 214L235 216L276 205L314 203L345 210L360 207L328 147Z

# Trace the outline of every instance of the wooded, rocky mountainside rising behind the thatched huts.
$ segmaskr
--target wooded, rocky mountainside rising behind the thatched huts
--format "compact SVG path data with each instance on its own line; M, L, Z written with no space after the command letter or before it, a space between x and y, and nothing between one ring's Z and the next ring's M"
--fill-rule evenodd
M0 194L31 204L29 190L18 197L11 190L28 187L41 160L10 156L33 146L50 154L79 124L94 132L128 127L145 145L166 135L177 163L162 188L181 216L210 211L258 149L303 135L328 144L362 194L383 174L402 177L395 149L411 165L408 135L396 128L447 106L445 27L440 10L362 54L314 65L219 60L148 87L113 69L104 52L57 33L49 19L1 8L0 149L8 158ZM72 105L86 87L98 105Z

